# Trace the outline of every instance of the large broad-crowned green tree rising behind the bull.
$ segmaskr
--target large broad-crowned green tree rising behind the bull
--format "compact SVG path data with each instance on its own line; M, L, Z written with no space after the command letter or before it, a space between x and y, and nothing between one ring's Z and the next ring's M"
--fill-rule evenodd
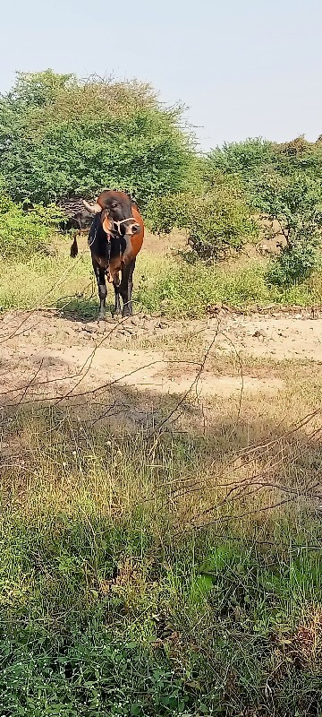
M0 99L0 172L18 202L114 186L144 203L180 190L189 172L181 114L161 107L147 84L20 73Z

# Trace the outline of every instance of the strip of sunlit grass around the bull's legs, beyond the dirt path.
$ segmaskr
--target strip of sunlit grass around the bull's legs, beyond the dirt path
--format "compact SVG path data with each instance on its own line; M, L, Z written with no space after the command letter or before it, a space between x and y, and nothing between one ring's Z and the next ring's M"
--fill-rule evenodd
M322 272L287 290L268 288L265 272L266 263L256 259L211 269L201 263L186 263L179 255L139 255L134 304L137 310L192 317L205 314L208 305L221 301L238 307L322 303ZM68 240L60 241L56 256L6 262L3 276L0 307L4 311L58 306L96 315L97 288L89 253L86 250L78 260L72 260ZM113 289L109 297L112 303Z

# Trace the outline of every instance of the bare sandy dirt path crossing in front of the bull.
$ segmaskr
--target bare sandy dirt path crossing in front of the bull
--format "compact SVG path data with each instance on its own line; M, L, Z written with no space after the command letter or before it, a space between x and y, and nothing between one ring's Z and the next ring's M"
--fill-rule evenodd
M322 357L322 318L310 320L300 314L229 313L194 321L140 315L102 325L84 324L55 311L16 312L4 315L0 323L0 393L5 402L23 392L38 390L54 398L106 384L161 394L190 388L210 396L240 391L240 376L216 375L207 362L199 376L199 363L184 348L188 337L205 350L214 341L212 351L217 355L237 351L241 356L318 362ZM270 393L281 385L271 371L267 378L244 376L243 389Z

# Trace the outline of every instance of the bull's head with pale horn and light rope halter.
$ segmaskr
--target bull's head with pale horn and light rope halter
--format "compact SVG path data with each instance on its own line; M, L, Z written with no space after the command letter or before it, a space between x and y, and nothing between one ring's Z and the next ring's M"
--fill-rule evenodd
M132 216L131 199L124 192L105 190L97 197L97 202L89 204L83 200L84 206L93 214L99 213L102 228L108 239L119 235L125 239L123 261L131 259L131 237L140 232L140 224Z

